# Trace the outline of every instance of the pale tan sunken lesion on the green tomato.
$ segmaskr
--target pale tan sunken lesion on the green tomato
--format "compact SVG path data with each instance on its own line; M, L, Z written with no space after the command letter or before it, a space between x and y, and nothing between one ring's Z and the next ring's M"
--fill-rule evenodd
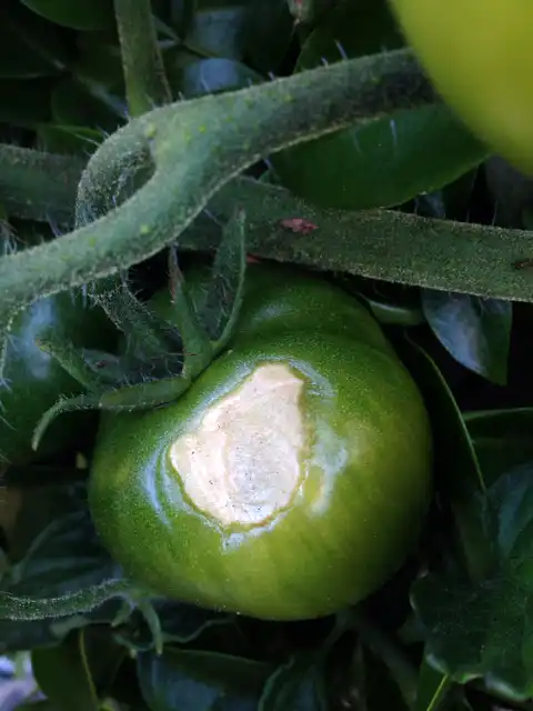
M286 365L260 365L173 442L170 460L197 509L223 525L269 520L303 475L304 382Z

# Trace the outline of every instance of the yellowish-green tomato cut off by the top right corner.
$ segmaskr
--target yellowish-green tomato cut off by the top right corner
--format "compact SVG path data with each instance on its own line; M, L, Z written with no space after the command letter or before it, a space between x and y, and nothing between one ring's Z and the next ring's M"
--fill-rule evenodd
M391 0L436 89L496 152L533 174L530 0Z

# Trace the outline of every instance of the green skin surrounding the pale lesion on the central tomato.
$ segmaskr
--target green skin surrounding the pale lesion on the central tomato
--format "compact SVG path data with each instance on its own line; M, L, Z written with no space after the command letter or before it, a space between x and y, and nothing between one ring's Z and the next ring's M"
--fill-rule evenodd
M375 590L414 545L431 495L422 398L382 334L380 343L376 322L366 339L353 334L358 314L366 323L360 304L353 333L335 326L334 312L313 328L305 308L324 292L312 279L304 290L302 280L291 309L280 309L275 328L265 317L264 331L268 289L254 301L247 288L248 316L231 348L178 401L102 419L89 479L92 517L125 572L158 594L261 619L316 618ZM342 312L350 298L332 289ZM290 286L279 291L283 304ZM274 293L266 299L273 311ZM299 300L304 318L294 329ZM223 523L187 494L170 449L213 403L273 362L305 383L300 409L313 432L305 478L268 520Z

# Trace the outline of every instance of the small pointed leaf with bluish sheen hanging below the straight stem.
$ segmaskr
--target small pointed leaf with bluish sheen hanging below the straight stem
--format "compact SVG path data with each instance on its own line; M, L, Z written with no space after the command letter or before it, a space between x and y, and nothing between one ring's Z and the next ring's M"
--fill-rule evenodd
M422 308L433 333L455 360L499 385L506 383L511 302L425 289Z

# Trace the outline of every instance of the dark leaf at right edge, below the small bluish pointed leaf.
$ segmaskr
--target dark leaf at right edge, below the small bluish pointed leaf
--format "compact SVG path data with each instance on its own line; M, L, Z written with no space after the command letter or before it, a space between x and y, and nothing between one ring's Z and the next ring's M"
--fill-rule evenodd
M533 408L466 412L463 417L489 485L533 460Z

